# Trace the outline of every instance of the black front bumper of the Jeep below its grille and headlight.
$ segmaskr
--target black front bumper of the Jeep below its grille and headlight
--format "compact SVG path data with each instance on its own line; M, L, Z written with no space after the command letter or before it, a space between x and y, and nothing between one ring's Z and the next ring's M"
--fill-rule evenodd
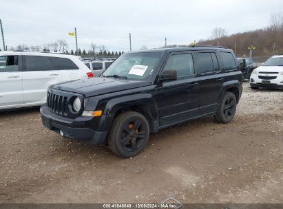
M86 144L105 144L107 131L94 130L93 117L63 118L49 111L46 105L41 106L40 111L43 126L46 128L57 133L62 131L64 137Z

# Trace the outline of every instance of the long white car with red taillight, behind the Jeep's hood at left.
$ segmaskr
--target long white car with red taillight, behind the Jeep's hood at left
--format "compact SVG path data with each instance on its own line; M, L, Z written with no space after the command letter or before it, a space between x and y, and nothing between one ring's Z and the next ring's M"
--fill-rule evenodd
M0 109L39 106L50 85L92 77L79 56L0 52Z

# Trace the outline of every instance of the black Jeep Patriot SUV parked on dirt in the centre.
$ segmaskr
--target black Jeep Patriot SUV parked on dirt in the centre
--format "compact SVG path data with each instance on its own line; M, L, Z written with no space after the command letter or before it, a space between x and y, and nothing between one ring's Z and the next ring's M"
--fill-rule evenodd
M41 107L48 129L88 144L138 155L149 133L214 115L233 120L242 73L232 50L187 47L129 52L99 78L53 85Z

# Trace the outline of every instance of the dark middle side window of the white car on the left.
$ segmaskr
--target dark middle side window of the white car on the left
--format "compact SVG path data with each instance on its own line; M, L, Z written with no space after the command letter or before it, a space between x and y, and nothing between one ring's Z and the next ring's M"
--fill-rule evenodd
M50 58L48 56L25 56L27 71L52 70Z

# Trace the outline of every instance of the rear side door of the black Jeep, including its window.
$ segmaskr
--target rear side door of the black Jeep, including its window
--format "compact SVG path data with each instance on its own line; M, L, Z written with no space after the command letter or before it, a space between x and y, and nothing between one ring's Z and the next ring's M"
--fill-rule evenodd
M222 77L218 54L215 51L198 51L198 83L200 87L200 114L216 111L220 98Z

